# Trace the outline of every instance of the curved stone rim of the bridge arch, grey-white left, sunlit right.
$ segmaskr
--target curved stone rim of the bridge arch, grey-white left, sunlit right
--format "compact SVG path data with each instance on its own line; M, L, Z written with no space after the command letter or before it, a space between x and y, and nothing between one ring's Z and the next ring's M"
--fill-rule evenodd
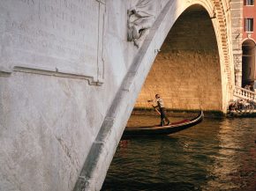
M122 84L102 121L102 127L88 154L74 190L98 190L123 134L132 108L151 69L158 49L162 47L169 30L184 11L193 5L203 7L212 18L218 52L221 101L219 111L225 113L234 84L228 0L173 0L160 12L146 40L134 56Z

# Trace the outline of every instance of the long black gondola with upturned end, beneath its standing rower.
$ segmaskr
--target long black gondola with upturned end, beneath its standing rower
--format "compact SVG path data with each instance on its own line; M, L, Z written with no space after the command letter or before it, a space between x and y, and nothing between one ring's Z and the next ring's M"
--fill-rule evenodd
M200 111L192 120L184 119L183 121L172 122L168 126L147 126L147 127L126 127L123 136L156 136L169 135L178 131L188 129L203 121L204 113Z

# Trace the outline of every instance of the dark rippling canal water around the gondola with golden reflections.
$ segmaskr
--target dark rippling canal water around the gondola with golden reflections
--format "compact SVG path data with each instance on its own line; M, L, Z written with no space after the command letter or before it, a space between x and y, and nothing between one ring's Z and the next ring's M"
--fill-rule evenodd
M128 122L158 123L152 115ZM170 136L121 140L102 190L256 191L255 141L255 118L206 118Z

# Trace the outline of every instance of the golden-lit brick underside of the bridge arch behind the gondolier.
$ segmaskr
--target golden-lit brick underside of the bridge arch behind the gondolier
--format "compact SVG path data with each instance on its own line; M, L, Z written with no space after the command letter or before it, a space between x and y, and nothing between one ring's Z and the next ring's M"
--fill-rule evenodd
M192 5L177 18L156 56L136 107L160 93L173 110L222 111L222 77L215 29L208 12Z

